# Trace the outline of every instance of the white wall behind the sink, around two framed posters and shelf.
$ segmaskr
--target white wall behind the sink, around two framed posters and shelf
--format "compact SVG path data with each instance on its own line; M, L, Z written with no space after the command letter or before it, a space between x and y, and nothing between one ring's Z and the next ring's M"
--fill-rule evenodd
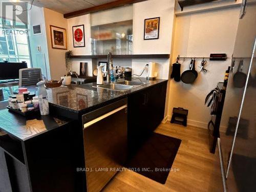
M154 9L153 9L154 8ZM133 54L170 54L170 46L172 41L173 19L174 19L175 1L169 0L150 0L136 3L130 6L110 9L106 11L90 14L68 19L69 30L75 25L84 25L86 35L86 48L73 48L72 32L69 33L69 42L71 42L69 49L73 51L74 55L90 55L90 30L91 25L102 25L113 22L120 22L121 20L133 19ZM148 11L150 10L150 11ZM117 16L119 15L119 16ZM114 16L114 17L113 17ZM160 34L159 39L144 40L144 19L160 17ZM103 61L104 59L102 59ZM115 66L131 66L133 74L140 74L148 62L156 62L159 72L158 78L168 79L169 76L169 59L131 59L130 61L121 61L114 59ZM92 75L91 69L92 59L72 59L72 69L79 72L79 63L88 62L89 75ZM147 70L142 77L146 77Z

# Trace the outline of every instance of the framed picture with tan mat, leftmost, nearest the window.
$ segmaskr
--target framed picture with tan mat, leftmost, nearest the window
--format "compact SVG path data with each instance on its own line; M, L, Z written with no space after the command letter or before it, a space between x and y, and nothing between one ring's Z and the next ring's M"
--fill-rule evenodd
M53 49L67 49L66 29L50 25Z

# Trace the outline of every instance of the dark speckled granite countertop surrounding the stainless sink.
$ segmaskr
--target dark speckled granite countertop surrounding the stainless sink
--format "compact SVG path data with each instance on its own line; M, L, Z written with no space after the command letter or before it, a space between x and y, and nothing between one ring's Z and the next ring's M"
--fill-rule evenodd
M132 80L146 82L147 84L126 91L94 88L93 86L97 86L95 82L82 85L71 84L67 87L48 89L48 100L51 105L61 109L66 109L75 113L86 112L97 105L105 102L111 102L122 97L124 98L131 93L135 93L147 87L151 87L154 84L167 81L164 79L147 80L142 77L135 77ZM123 81L123 79L119 81Z

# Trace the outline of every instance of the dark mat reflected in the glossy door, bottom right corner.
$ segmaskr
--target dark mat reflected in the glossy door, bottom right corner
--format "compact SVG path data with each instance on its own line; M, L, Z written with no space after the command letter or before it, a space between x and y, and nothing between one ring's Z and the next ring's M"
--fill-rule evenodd
M256 159L233 154L231 165L239 191L255 191Z

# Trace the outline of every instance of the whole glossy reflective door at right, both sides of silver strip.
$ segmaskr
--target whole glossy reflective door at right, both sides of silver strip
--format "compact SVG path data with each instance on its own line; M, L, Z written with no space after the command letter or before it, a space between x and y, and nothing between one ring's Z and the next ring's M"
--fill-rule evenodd
M247 0L245 15L239 20L232 56L234 67L228 79L221 120L222 173L228 191L256 190L255 10L255 0ZM236 79L239 72L245 74L244 81L241 81L244 75ZM242 86L237 86L238 80Z

